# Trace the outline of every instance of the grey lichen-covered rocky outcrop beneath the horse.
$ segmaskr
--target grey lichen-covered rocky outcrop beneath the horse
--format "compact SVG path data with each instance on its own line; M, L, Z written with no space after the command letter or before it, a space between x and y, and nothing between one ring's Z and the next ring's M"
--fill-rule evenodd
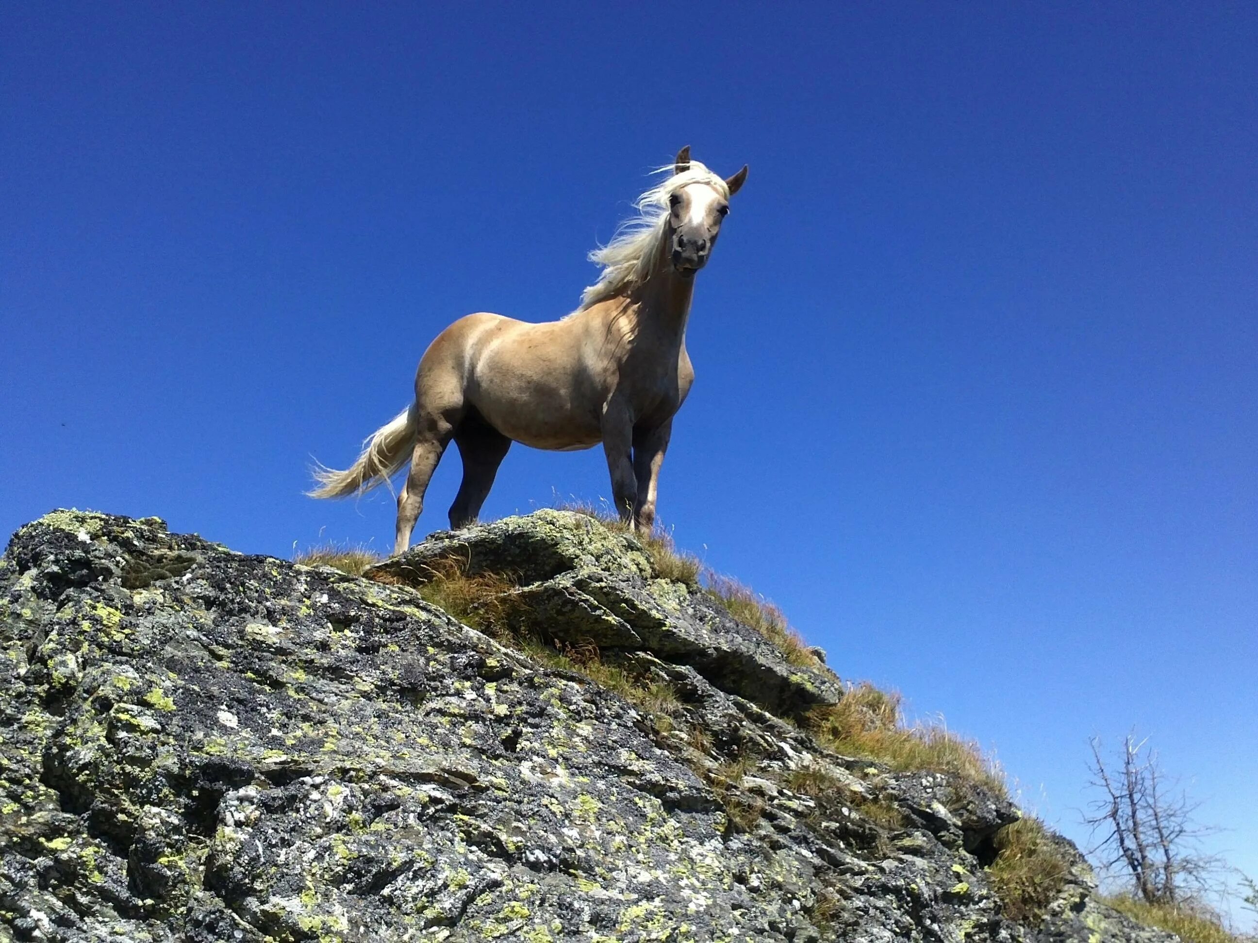
M416 588L449 560L671 700L455 621ZM1102 907L1073 847L1043 923L1006 919L985 873L1006 800L823 749L798 722L833 673L590 518L438 534L370 576L155 518L21 528L0 938L1171 939Z

